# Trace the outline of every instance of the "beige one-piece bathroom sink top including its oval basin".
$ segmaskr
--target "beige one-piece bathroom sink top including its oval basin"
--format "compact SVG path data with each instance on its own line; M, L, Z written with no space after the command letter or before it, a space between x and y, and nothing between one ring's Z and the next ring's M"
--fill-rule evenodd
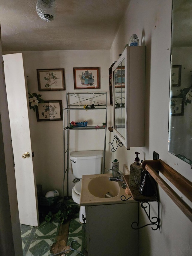
M82 176L80 206L131 203L134 199L127 199L125 188L121 183L109 180L112 173L92 174ZM105 198L110 193L113 197ZM122 200L123 199L123 200Z

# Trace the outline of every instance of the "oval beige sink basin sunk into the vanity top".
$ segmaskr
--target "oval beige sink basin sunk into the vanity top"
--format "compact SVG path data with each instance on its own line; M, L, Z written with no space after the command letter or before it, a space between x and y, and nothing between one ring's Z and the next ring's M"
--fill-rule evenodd
M88 184L89 192L100 198L105 198L107 193L116 197L119 194L119 183L110 181L109 176L99 176L91 179Z

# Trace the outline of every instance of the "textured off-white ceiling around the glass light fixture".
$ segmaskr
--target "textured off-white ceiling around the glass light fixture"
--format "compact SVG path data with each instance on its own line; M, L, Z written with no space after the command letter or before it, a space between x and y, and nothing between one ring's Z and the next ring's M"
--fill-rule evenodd
M3 51L110 49L129 0L55 0L55 19L36 0L0 0Z

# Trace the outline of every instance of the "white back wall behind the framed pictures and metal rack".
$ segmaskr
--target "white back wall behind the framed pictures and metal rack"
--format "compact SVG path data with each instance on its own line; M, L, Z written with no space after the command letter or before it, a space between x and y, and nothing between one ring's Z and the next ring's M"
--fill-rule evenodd
M107 92L109 105L109 67L110 50L61 50L61 51L24 51L23 62L27 76L28 91L39 93L44 100L62 100L63 107L66 107L66 92ZM101 89L74 90L73 67L99 67L101 77ZM41 68L64 68L65 91L38 91L37 71ZM111 126L111 107L108 109L107 125ZM41 184L43 191L58 189L62 194L63 182L63 122L37 122L36 114L29 111L29 121L32 140L32 151L35 156L34 170L37 184ZM84 112L84 111L83 111ZM89 112L89 115L87 115ZM85 113L85 112L84 112ZM94 121L93 125L102 125L105 122L105 112L86 111L86 118L80 112L76 112L76 119L70 121ZM83 119L83 120L81 120ZM99 123L100 122L100 123ZM73 133L74 132L74 133ZM109 143L110 132L107 130L107 145ZM70 152L77 150L103 150L104 130L102 131L70 131ZM111 152L109 146L106 147L106 169L110 168ZM71 174L71 164L69 164L69 195L73 187ZM65 184L65 195L67 186Z

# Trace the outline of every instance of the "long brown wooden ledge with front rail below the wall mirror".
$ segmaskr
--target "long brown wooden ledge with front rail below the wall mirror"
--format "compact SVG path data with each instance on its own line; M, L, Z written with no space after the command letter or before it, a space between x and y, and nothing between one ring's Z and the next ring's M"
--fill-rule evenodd
M159 160L146 160L143 161L141 167L148 171L167 195L173 200L174 203L182 210L182 212L192 221L192 209L181 197L159 176L156 172L161 172L184 196L192 202L192 182L187 180L184 176L170 167L161 159Z

